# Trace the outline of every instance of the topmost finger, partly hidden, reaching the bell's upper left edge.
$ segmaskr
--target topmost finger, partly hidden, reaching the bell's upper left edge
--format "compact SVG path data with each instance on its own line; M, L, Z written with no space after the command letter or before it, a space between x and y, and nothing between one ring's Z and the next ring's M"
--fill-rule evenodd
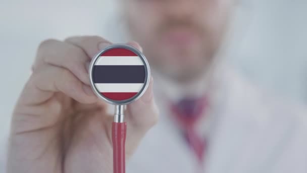
M110 41L99 36L73 36L66 38L65 42L82 49L90 59L93 58L100 50L112 44Z

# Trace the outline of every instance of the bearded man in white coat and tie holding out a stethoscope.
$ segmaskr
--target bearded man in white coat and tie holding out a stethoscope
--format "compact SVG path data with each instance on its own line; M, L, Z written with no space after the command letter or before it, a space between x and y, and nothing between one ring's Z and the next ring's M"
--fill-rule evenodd
M128 172L307 172L307 113L218 54L235 0L119 2L138 42L127 44L143 51L155 80L126 110ZM8 172L113 172L112 117L87 73L110 44L41 42L13 113Z

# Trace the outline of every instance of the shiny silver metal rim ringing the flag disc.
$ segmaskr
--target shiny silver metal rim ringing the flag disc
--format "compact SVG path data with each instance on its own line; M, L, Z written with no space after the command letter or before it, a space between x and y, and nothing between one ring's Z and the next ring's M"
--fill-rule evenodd
M135 53L143 62L144 65L144 69L145 69L145 80L144 80L144 84L142 85L142 88L140 89L140 91L133 97L126 99L126 100L113 100L110 98L107 98L106 96L104 96L103 94L101 94L98 89L96 88L96 85L93 81L93 68L94 65L96 63L96 61L99 59L99 57L104 54L105 52L112 50L112 49L116 49L116 48L120 48L120 49L126 49L129 51L132 51L133 53ZM95 95L98 96L100 99L103 99L104 101L106 101L107 103L113 104L113 105L126 105L129 104L133 101L136 101L137 99L139 99L146 91L148 84L149 84L149 79L150 79L150 68L149 68L149 64L146 60L146 57L136 48L129 46L129 45L124 45L124 44L114 44L114 45L110 45L108 47L106 47L105 49L99 51L91 60L90 65L89 65L89 78L90 78L90 83L91 83L91 88L94 91Z

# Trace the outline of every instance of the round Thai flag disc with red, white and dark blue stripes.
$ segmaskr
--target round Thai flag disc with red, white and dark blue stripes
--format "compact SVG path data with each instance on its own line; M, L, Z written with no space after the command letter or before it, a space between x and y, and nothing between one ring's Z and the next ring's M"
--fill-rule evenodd
M126 100L135 96L145 82L143 61L134 52L110 49L95 61L93 82L106 98Z

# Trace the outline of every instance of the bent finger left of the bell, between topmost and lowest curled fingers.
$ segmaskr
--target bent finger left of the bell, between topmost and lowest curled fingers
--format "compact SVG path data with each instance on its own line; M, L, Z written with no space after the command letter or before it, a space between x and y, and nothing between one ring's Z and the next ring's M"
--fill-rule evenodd
M90 84L87 61L87 55L80 48L63 41L48 39L43 41L37 50L33 70L43 70L48 65L64 67L82 82Z

